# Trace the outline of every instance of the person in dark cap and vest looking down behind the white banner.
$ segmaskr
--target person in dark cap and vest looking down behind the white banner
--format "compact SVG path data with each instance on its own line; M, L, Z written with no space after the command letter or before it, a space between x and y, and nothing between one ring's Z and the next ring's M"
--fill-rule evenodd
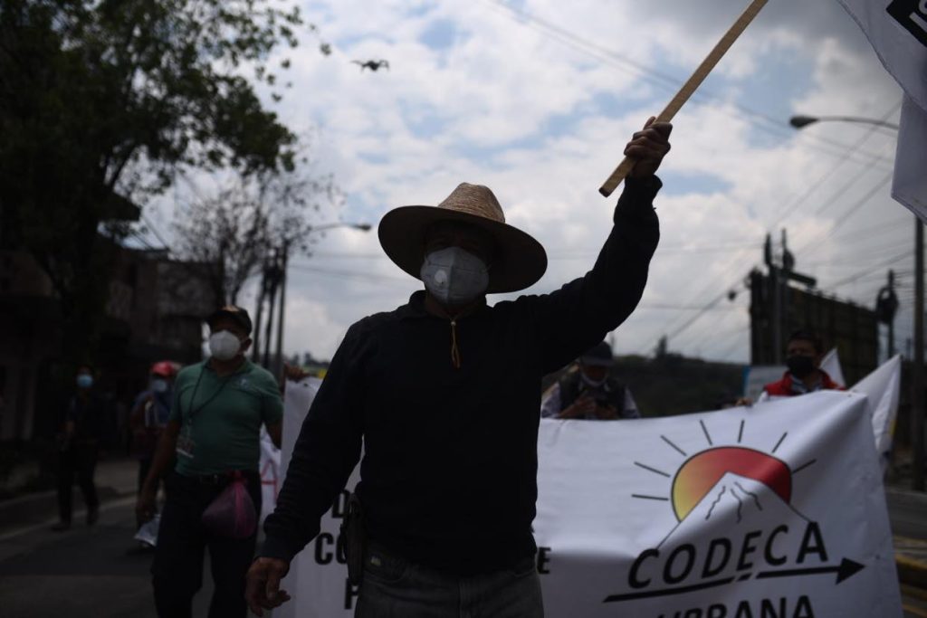
M607 342L587 350L577 359L576 369L565 372L544 394L541 417L585 421L641 418L628 386L609 376L614 364Z

